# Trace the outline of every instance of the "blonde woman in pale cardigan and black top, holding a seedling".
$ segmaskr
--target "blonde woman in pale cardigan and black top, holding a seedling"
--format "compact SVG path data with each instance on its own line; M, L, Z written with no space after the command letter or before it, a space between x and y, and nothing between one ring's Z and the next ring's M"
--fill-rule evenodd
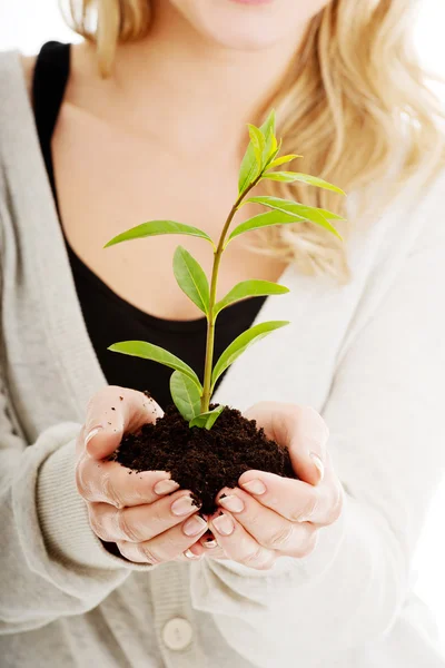
M406 3L101 0L97 27L70 4L83 43L0 58L2 665L444 666L411 591L445 466L444 138ZM107 461L170 401L167 371L107 346L202 365L177 239L102 247L156 218L216 237L246 122L271 107L301 170L349 193L348 242L305 224L228 248L220 295L253 277L291 292L234 305L217 347L257 318L291 325L215 401L287 444L300 480L248 471L202 519L167 473Z

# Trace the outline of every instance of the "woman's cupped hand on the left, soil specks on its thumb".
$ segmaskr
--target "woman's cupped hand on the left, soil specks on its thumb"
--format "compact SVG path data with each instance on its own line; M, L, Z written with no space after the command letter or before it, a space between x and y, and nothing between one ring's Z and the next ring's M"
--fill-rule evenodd
M208 529L190 492L179 490L168 473L130 475L129 469L106 460L125 432L160 415L158 404L141 392L106 387L90 401L77 445L76 481L92 530L138 563L192 558L188 549Z

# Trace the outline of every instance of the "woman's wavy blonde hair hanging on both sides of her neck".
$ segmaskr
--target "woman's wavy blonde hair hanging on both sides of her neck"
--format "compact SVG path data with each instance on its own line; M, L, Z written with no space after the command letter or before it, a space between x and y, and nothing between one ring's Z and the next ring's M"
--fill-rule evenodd
M97 45L102 76L111 72L119 42L149 30L149 0L68 1L71 26ZM280 89L257 119L276 108L284 151L306 156L298 170L347 193L389 183L382 205L415 174L431 176L444 164L443 111L416 58L414 24L406 0L332 0L314 17ZM338 195L264 183L269 194L343 213ZM344 236L347 230L344 224ZM294 261L306 274L348 276L346 245L323 228L307 223L263 233L259 252Z

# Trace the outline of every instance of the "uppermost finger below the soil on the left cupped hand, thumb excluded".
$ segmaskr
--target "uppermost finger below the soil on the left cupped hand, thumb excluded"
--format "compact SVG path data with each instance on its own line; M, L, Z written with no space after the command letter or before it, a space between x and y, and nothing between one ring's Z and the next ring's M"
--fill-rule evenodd
M86 501L116 508L154 503L179 489L166 471L130 471L118 462L98 461L86 451L76 466L77 489Z

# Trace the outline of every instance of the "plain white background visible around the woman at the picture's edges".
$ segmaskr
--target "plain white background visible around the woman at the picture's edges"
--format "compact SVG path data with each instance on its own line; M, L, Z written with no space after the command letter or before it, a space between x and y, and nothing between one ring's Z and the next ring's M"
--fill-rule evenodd
M416 26L417 47L428 68L445 77L444 26L445 0L423 0L423 9ZM57 0L0 0L1 50L19 48L27 53L33 53L43 41L49 39L60 41L77 39L63 24ZM418 449L422 456L423 443L418 444ZM416 590L435 613L445 649L444 514L445 481L431 508L415 563L418 573Z

